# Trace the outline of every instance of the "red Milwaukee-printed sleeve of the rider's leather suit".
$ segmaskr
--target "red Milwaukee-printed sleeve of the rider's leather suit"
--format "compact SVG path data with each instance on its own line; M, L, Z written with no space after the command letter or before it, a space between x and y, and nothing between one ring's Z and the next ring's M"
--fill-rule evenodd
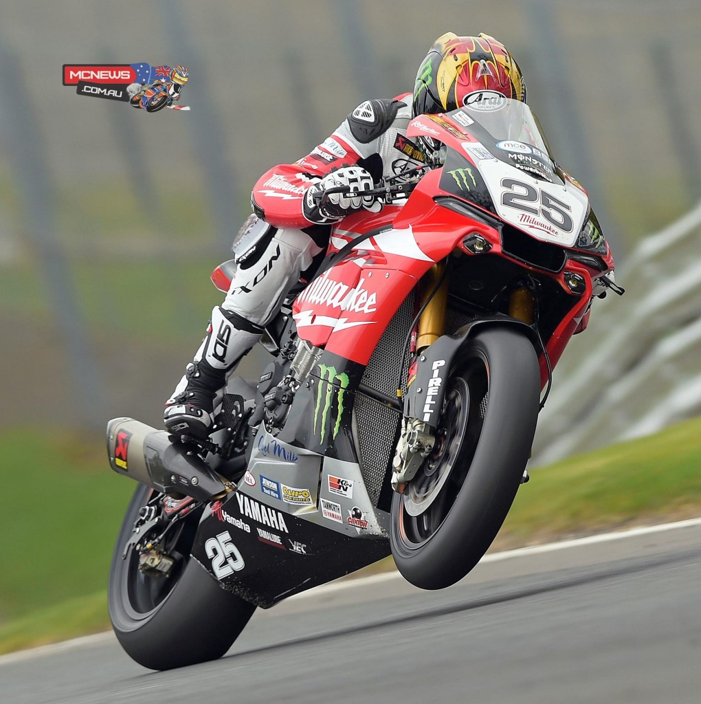
M340 137L328 137L293 164L279 164L266 171L253 187L253 206L274 227L310 227L302 215L302 199L310 185L332 169L355 164L360 155Z

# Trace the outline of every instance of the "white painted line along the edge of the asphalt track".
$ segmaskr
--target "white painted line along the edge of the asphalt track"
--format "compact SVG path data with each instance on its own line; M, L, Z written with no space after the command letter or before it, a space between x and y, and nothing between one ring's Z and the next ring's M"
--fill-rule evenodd
M484 562L499 562L500 560L508 560L510 558L518 558L524 555L538 555L541 553L552 553L557 550L567 550L569 548L578 548L585 545L594 545L595 543L607 543L612 540L621 540L625 538L635 538L641 535L649 535L654 533L662 533L678 528L689 528L701 525L701 518L691 518L685 521L676 521L674 523L662 523L655 526L643 526L640 528L631 528L628 530L617 531L613 533L602 533L598 535L588 536L586 538L576 538L573 540L563 540L557 543L546 543L545 545L534 545L528 548L516 548L515 550L507 550L500 553L490 553L485 555L480 560L480 564ZM330 593L345 591L346 589L358 589L362 586L372 586L381 582L391 582L393 579L403 579L396 571L382 572L381 574L372 574L370 577L358 577L358 579L349 579L343 582L332 582L331 584L322 584L309 591L303 591L301 594L289 597L288 601L301 600L309 597L319 598ZM53 655L62 653L65 650L73 650L74 648L82 648L83 646L99 646L103 643L115 641L115 635L112 631L97 633L92 636L82 636L74 638L70 641L62 643L53 643L49 646L39 646L39 648L31 648L30 650L20 650L17 653L9 653L8 655L0 655L0 665L9 665L12 662L20 660L29 660L30 658L38 658L41 655Z

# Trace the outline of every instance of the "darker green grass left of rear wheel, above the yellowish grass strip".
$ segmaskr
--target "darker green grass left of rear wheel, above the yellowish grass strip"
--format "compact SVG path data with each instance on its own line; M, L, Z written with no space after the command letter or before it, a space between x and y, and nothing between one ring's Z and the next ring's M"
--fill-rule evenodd
M96 434L0 433L0 622L104 589L135 484Z

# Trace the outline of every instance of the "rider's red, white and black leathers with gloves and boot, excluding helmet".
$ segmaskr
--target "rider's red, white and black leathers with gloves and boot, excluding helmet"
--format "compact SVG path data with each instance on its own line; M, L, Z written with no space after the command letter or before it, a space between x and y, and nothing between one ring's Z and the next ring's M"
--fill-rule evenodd
M234 243L236 272L227 296L212 310L194 360L166 401L170 432L208 436L227 377L263 336L302 272L326 250L330 226L361 208L377 212L380 204L362 191L424 163L424 151L406 137L411 104L411 94L365 101L307 156L258 179L254 215L239 233L241 246ZM338 185L352 192L320 199Z

